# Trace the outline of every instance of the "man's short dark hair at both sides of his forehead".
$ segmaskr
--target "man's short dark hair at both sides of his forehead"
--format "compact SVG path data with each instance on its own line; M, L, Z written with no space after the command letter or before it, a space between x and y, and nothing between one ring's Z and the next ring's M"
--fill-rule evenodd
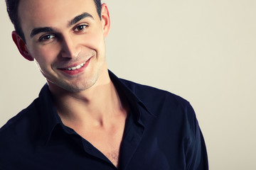
M101 0L93 0L97 9L97 13L101 19ZM26 42L23 30L21 29L21 20L18 18L18 4L20 0L6 0L6 8L11 19L11 23L14 24L14 29L16 33L21 37L21 39Z

